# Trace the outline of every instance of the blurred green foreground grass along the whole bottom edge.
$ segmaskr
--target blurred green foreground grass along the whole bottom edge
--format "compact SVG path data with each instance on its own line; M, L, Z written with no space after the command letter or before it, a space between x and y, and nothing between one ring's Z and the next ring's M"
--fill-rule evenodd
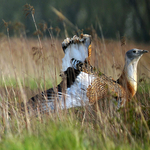
M69 116L68 116L69 117ZM49 118L49 117L46 117ZM45 119L46 119L45 118ZM71 118L70 118L71 119ZM43 119L44 120L44 119ZM45 120L44 120L45 121ZM67 121L67 122L65 122ZM113 138L105 137L100 129L92 127L84 128L80 122L71 119L58 121L49 120L43 123L35 121L32 132L26 130L19 135L3 136L0 142L1 149L21 150L21 149L148 149L148 143L129 143L125 139L117 142ZM123 136L122 136L123 138Z

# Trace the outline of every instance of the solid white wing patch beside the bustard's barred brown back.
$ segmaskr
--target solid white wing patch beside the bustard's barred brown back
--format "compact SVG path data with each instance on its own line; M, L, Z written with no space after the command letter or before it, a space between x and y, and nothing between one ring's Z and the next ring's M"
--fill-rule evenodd
M87 97L87 88L89 85L91 85L94 79L94 75L80 72L80 74L75 79L74 84L66 89L64 99L62 99L63 101L66 101L66 103L65 106L62 105L61 109L85 106L89 104L89 98Z

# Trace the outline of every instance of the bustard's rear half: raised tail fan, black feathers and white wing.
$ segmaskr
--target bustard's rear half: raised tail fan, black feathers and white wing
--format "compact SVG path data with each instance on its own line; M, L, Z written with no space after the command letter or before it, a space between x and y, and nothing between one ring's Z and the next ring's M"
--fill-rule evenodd
M79 67L84 63L90 63L90 44L91 36L87 34L82 34L81 37L66 38L62 42L65 53L62 59L62 82L55 88L32 97L29 103L33 109L38 106L41 111L49 109L53 111L85 105L88 101L85 89L91 84L94 76L82 72Z

